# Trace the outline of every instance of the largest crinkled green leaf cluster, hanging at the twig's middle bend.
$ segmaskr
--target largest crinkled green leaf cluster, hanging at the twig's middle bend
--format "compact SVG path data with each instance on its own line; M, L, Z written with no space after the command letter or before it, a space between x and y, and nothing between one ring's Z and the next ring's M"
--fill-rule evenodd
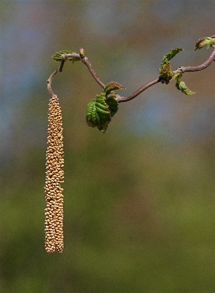
M119 105L115 99L116 94L111 91L122 88L124 86L121 84L108 83L101 95L96 95L96 99L91 100L86 105L86 123L88 126L97 127L103 133L106 132L108 124L113 115L116 114Z

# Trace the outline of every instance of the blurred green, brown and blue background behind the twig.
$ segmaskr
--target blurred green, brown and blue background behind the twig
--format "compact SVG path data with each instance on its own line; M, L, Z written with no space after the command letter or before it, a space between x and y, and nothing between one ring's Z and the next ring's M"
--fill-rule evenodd
M213 293L214 70L185 73L195 93L156 84L121 103L106 134L86 104L101 92L81 62L55 76L64 123L64 251L44 250L51 56L83 47L97 75L129 95L163 56L198 65L214 0L1 0L2 293Z

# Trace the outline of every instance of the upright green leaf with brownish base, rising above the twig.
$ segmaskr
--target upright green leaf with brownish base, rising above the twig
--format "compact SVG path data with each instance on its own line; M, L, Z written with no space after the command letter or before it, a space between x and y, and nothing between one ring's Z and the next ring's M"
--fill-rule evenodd
M165 79L172 79L173 72L171 70L170 60L180 51L183 51L183 49L182 48L171 49L169 53L167 53L163 57L160 63L160 74L159 74L160 77Z

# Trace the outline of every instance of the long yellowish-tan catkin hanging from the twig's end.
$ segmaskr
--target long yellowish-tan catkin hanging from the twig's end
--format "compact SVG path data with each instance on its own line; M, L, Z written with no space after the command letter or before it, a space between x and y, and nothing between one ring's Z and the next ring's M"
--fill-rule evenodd
M49 253L64 249L63 234L63 188L64 151L63 124L59 99L52 95L48 109L48 137L45 178L45 250Z

